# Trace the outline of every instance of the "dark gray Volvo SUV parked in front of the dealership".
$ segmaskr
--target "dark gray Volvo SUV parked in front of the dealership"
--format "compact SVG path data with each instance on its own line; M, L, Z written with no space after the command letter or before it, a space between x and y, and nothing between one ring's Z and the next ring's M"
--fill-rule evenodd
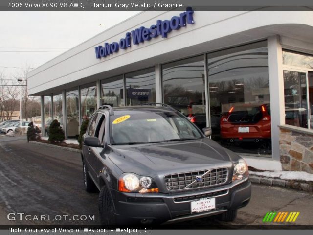
M251 197L247 165L203 132L165 104L97 110L82 160L86 190L100 190L101 223L234 220Z

